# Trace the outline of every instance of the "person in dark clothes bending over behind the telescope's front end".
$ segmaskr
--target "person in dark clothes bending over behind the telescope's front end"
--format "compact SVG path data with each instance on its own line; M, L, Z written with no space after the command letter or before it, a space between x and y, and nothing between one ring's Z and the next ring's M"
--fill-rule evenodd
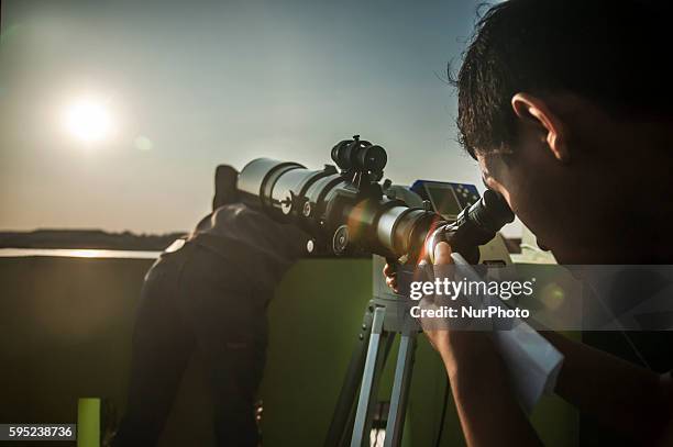
M233 168L218 167L212 213L145 276L114 447L157 444L195 351L209 375L217 445L258 443L254 401L265 360L265 308L306 236L240 203L236 178Z

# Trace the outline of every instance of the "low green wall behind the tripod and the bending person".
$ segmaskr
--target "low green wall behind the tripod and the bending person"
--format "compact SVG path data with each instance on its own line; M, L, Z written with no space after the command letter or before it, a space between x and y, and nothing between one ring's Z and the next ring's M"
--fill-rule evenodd
M114 426L125 404L134 312L151 264L0 258L0 421L74 422L78 399L99 396L103 427ZM321 445L371 291L366 259L305 260L288 272L268 312L261 390L266 446ZM394 361L393 356L388 365ZM162 446L211 444L211 404L201 375L197 356ZM419 337L406 433L411 445L432 445L444 384L439 357ZM532 420L547 445L576 445L576 414L560 399L544 399ZM450 405L442 445L462 444Z

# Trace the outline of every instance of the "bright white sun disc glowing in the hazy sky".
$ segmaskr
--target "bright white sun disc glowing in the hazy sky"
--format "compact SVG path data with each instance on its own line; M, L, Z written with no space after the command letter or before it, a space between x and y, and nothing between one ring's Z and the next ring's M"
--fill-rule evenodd
M98 143L110 136L112 116L106 103L93 98L75 101L66 111L65 124L73 136Z

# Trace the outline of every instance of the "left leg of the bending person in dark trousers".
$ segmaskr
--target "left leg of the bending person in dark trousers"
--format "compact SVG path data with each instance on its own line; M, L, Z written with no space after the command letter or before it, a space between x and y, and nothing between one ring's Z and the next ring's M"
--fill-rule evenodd
M156 445L194 351L194 334L176 308L178 276L179 264L163 259L145 277L133 333L126 412L113 447Z

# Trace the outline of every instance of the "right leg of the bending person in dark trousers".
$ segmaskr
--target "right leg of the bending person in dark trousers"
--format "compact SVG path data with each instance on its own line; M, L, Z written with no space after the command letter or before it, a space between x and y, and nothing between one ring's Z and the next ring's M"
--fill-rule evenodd
M236 267L201 249L187 262L184 280L195 288L181 297L192 320L213 396L218 446L256 446L254 403L266 349L266 297Z

